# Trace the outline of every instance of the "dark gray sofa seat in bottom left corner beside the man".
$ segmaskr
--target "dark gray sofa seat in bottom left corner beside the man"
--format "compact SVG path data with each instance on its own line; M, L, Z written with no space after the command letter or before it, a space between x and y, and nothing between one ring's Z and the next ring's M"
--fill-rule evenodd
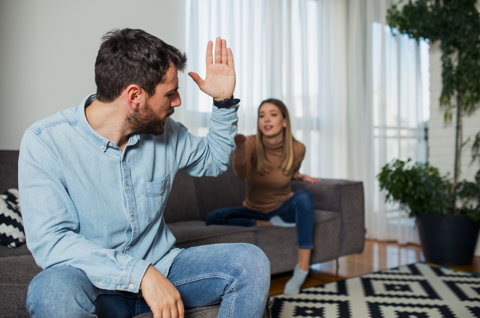
M25 306L30 281L42 269L32 255L0 258L0 317L30 317Z

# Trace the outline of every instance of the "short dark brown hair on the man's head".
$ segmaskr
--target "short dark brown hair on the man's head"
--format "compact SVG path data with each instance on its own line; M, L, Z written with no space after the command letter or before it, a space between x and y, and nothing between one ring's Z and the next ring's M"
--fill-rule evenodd
M112 102L131 84L148 97L165 78L170 65L185 69L187 56L140 29L114 29L102 37L95 61L96 99Z

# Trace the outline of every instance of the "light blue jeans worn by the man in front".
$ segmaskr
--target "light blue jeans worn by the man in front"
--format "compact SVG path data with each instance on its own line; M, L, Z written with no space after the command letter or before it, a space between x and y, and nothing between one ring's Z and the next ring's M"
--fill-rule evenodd
M221 303L218 317L261 318L270 288L270 262L246 243L185 249L174 259L168 280L180 292L185 309ZM36 317L134 317L150 312L138 294L95 287L84 272L53 266L28 286L28 312Z

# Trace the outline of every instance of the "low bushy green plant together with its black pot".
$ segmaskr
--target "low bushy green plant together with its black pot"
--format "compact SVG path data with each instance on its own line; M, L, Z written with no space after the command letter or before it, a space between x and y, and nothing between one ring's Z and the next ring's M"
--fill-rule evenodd
M416 217L423 254L428 261L467 265L472 261L480 229L480 179L457 183L428 163L395 160L377 176L386 199L398 202Z

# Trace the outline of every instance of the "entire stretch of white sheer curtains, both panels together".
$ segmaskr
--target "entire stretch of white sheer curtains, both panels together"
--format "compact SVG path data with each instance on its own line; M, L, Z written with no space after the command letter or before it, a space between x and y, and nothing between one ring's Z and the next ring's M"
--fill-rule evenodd
M392 37L384 21L391 3L186 0L186 52L188 70L204 76L207 41L227 39L239 132L255 134L262 100L283 100L307 148L300 171L362 181L367 236L407 243L418 242L415 224L384 204L375 176L391 159L426 159L428 45ZM205 135L211 98L191 79L185 86L180 120Z

